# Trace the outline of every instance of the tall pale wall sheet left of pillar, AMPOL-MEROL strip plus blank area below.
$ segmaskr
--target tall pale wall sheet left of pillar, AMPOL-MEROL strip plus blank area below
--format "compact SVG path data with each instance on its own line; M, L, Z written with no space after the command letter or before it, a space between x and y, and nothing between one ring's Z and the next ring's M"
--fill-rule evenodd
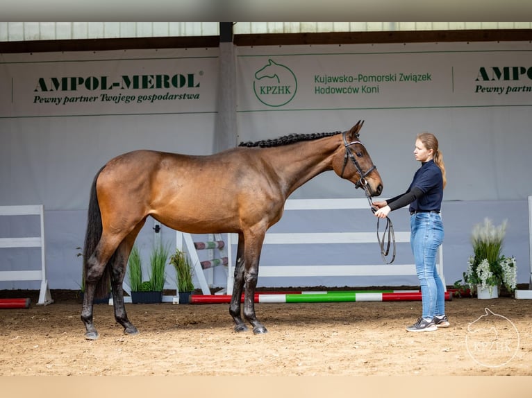
M212 153L218 53L0 54L0 204L83 209L116 155Z

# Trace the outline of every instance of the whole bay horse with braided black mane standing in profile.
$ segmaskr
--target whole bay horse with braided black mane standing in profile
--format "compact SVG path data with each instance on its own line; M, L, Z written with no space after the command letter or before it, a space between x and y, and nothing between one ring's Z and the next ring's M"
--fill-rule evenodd
M98 338L95 297L111 284L115 320L125 334L137 334L128 320L122 282L133 243L147 216L190 234L236 233L238 250L229 313L235 331L267 329L256 318L253 297L266 231L283 215L288 196L324 171L379 196L383 183L359 140L363 121L345 132L288 135L241 143L214 155L135 150L111 159L94 177L83 248L85 294L81 320L85 338Z

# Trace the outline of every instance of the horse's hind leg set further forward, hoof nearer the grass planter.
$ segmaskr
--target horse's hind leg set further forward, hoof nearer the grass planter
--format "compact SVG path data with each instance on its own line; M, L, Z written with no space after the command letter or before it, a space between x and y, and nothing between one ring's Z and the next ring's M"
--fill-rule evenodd
M124 282L124 276L126 275L126 266L129 259L129 254L135 243L142 225L145 222L142 220L135 229L126 236L126 239L120 243L116 252L116 259L111 264L111 283L113 285L113 307L115 309L115 320L124 327L125 334L138 334L138 329L133 326L129 321L126 313L126 306L124 304L124 288L122 282Z

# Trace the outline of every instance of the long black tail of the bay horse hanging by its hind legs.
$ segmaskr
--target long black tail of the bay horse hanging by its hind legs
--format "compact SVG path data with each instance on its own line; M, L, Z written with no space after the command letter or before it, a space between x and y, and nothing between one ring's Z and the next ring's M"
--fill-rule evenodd
M105 167L105 166L103 166ZM90 256L96 250L96 246L101 239L102 225L101 225L101 213L100 205L98 203L98 197L96 192L96 181L103 170L103 167L100 168L98 173L94 176L92 181L92 186L90 187L90 199L89 199L89 209L87 214L87 232L85 233L85 246L83 248L83 282L85 282L87 277L87 268L88 260ZM115 254L111 257L108 263L114 261ZM110 288L110 270L108 264L103 270L103 275L99 279L96 286L95 298L107 297Z

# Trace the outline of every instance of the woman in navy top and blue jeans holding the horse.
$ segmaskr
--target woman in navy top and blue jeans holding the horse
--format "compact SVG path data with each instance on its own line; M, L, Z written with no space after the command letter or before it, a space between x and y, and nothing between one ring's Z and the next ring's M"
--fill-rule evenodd
M434 331L449 327L445 315L445 288L436 269L436 255L443 241L440 216L443 189L447 184L443 155L438 139L422 132L415 140L414 156L421 162L408 190L402 195L374 202L375 216L385 218L390 211L410 205L410 246L422 293L422 316L407 331Z

